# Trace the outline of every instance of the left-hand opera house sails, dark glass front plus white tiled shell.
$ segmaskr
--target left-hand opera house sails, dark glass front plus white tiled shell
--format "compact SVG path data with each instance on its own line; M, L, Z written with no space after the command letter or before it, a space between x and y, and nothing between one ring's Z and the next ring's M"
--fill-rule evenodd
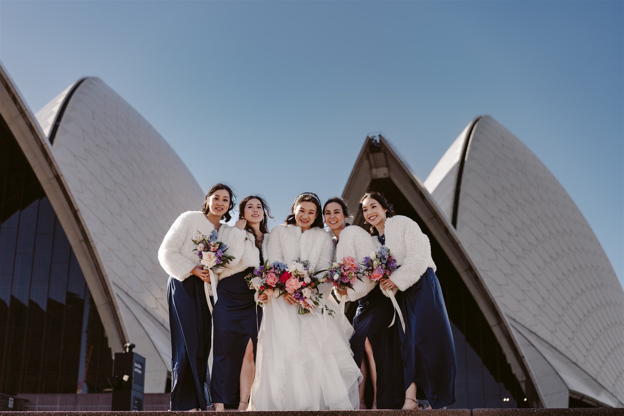
M102 355L99 351L102 346L108 350L104 354L108 367L99 377L105 383L112 372L111 350L122 351L125 342L133 342L137 346L135 351L147 359L145 392L165 391L171 371L168 276L160 268L157 251L175 218L183 211L201 206L200 186L154 128L101 80L86 78L71 85L37 113L37 125L4 70L1 75L0 110L6 131L11 133L3 135L2 140L14 139L13 145L7 147L11 154L2 153L11 165L2 164L5 199L1 205L0 238L4 244L0 284L2 293L6 289L12 296L11 299L2 296L0 326L13 335L0 346L4 348L0 351L3 366L0 374L4 376L0 382L7 383L6 387L0 385L0 390L14 393L76 392L78 387L82 392L102 390L106 385L85 384L90 372L99 369L99 356L94 354ZM16 164L30 173L16 179L15 175L21 171L10 169ZM31 200L38 201L39 208L33 208ZM42 213L50 215L49 210L41 208L46 204L51 205L57 218L44 218L47 222L36 225L26 220ZM14 231L21 225L20 218L34 226L34 230L22 226ZM52 231L48 223L52 224ZM39 241L51 240L47 247L52 253L49 277L39 267L40 253L24 257L29 249L32 251L28 244L34 244L34 235L40 232L45 236ZM40 249L39 243L34 246ZM67 251L63 257L64 269L55 266L61 257L57 260L54 250L61 249ZM29 261L31 264L26 268L24 264ZM59 275L61 269L69 277ZM24 276L31 279L30 287ZM46 279L47 292L37 289L46 285L41 283ZM87 286L72 289L79 284L72 282L80 279ZM63 289L65 286L61 287L57 281L64 281L67 288ZM61 313L56 311L59 307L55 302L64 307L62 319L67 321L51 317L53 312ZM80 315L76 312L79 306L74 303L84 304ZM18 313L16 308L25 312ZM41 313L48 316L43 323L39 322ZM107 337L103 342L98 340L95 351L89 350L90 342L95 341L89 331L97 329L97 326L91 329L92 321L102 329L101 334L96 331L97 336ZM63 335L53 341L76 345L76 351L66 353L71 364L60 364L68 374L60 375L49 367L52 359L46 354L53 351L47 352L47 348L46 354L39 354L41 363L12 361L12 357L19 356L17 351L26 354L27 344L34 341L27 338L37 332L32 330L32 325L43 326L54 334L59 331L52 328L59 326ZM20 377L29 379L29 375L37 373L37 377L47 379L53 371L69 387L46 383L26 386L16 381L19 377L11 377L19 373Z

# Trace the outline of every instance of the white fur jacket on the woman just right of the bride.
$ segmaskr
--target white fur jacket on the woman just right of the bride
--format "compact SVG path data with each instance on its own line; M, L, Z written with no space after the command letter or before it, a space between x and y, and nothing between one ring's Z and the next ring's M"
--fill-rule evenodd
M377 237L371 236L364 231L364 228L358 226L349 226L340 231L340 239L336 245L336 261L340 261L343 257L351 256L358 263L362 263L364 257L373 254L379 247ZM360 297L366 296L375 287L374 282L368 279L358 279L353 283L353 290L348 289L346 296L342 296L336 289L334 293L339 301L357 301ZM343 299L346 298L346 299Z

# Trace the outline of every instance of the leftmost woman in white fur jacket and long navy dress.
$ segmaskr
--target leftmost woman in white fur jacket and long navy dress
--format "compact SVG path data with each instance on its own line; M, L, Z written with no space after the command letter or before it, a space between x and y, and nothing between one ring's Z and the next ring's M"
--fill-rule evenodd
M222 231L234 208L229 186L217 183L206 195L202 211L187 211L171 226L158 249L158 261L170 275L167 284L171 332L171 410L206 410L210 403L210 299L204 282L210 272L199 264L191 239L200 231Z

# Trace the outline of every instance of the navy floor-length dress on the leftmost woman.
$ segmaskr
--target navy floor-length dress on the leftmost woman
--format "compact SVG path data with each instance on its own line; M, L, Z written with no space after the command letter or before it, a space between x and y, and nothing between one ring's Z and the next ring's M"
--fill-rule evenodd
M210 309L203 281L169 277L167 284L171 330L171 410L206 410L210 353Z

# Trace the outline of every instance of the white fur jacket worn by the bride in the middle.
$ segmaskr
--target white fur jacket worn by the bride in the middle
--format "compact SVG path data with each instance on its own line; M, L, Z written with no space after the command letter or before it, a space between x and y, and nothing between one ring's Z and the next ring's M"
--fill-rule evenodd
M296 225L278 225L271 230L267 246L268 259L289 264L298 258L310 261L310 269L326 269L334 256L331 236L323 228L301 232Z

